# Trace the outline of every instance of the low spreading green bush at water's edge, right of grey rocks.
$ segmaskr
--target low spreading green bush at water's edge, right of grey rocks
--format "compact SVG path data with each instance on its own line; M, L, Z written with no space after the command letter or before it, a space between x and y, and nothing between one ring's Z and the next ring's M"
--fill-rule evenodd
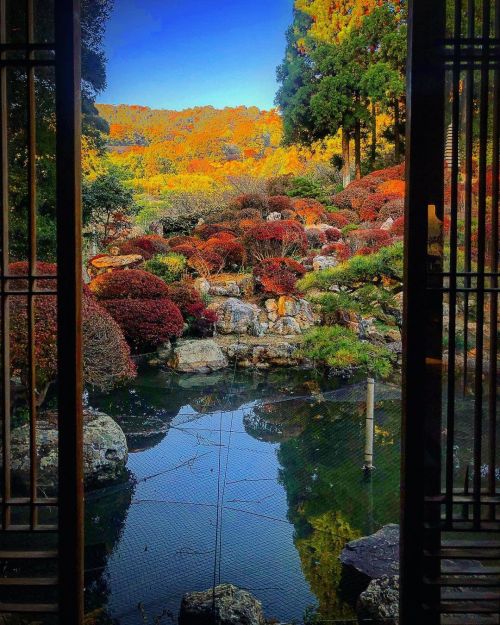
M361 341L342 326L314 328L304 335L304 356L337 371L362 370L386 378L392 371L391 353L384 347Z

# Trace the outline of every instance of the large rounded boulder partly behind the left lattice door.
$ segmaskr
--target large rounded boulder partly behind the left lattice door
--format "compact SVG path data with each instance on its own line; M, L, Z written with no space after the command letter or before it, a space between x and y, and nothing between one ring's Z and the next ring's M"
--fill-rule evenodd
M47 412L37 420L37 456L39 483L47 489L57 480L58 430L57 414ZM20 481L30 472L30 432L25 424L14 428L11 434L11 468ZM83 467L88 484L116 481L124 474L128 457L127 439L121 427L108 415L92 410L84 411Z

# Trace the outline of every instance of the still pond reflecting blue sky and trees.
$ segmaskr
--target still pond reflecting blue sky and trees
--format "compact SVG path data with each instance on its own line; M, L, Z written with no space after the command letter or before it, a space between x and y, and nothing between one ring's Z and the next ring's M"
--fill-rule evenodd
M399 507L399 393L377 389L371 480L364 394L313 371L146 369L91 396L130 448L127 480L87 495L95 622L175 622L183 594L214 579L250 590L268 619L353 618L340 552Z

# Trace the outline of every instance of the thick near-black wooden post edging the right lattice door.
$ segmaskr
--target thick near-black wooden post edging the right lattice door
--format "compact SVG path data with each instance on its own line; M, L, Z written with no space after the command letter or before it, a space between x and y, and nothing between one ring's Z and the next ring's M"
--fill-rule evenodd
M405 218L405 300L403 331L403 440L401 508L401 621L437 625L439 589L423 579L439 574L439 562L424 551L438 546L439 531L426 530L424 500L440 492L442 293L429 291L428 272L440 260L428 258L428 207L443 217L444 58L443 0L409 3L407 206ZM439 285L439 276L434 278ZM430 460L430 462L428 461Z

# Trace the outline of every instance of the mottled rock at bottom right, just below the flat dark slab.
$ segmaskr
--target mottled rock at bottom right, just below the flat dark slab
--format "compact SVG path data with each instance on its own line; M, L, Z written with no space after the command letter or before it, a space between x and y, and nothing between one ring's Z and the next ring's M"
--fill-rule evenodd
M356 605L360 625L398 625L399 575L384 575L370 582Z

